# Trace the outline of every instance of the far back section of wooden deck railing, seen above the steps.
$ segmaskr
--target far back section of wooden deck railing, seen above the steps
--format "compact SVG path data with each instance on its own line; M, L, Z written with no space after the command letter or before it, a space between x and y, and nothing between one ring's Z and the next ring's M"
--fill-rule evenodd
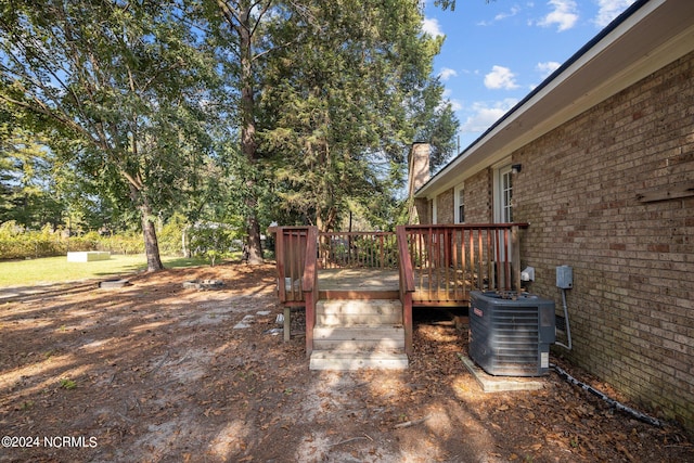
M398 248L390 232L319 233L321 269L397 269Z

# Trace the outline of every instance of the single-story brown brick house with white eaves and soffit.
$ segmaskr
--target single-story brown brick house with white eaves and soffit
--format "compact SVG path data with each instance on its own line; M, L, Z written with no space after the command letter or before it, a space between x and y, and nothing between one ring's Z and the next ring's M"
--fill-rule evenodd
M637 1L413 190L421 223L528 222L557 314L573 267L555 353L694 430L694 2Z

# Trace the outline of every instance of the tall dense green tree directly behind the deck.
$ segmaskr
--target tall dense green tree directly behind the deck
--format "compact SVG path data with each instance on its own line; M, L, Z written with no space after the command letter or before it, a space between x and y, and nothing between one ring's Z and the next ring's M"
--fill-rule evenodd
M393 227L412 141L451 151L457 120L430 77L441 40L422 33L414 2L307 10L310 22L282 29L290 44L268 55L259 91L278 209L330 230L360 204L376 227Z

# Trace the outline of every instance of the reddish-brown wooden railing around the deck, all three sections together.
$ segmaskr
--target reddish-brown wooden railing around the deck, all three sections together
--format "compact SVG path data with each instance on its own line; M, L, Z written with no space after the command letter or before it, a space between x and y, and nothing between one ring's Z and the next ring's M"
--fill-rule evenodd
M415 306L460 306L471 291L520 287L518 230L526 223L406 226ZM278 293L285 305L304 305L307 241L317 241L318 269L400 269L396 233L318 233L312 227L278 227ZM400 232L402 233L402 232ZM313 233L311 234L311 236Z

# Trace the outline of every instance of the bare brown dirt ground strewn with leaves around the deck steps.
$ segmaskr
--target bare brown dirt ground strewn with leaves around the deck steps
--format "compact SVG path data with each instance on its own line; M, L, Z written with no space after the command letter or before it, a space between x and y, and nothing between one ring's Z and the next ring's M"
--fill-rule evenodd
M0 288L0 462L694 461L677 426L555 373L483 393L446 312L415 312L406 371L313 372L304 337L282 339L271 265L127 278ZM205 279L224 285L183 287Z

